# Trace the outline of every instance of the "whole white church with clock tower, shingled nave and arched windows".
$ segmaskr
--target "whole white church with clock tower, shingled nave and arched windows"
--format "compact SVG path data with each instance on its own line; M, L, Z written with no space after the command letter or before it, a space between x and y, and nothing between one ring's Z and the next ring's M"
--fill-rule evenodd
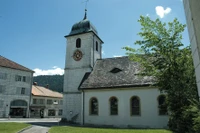
M63 118L82 125L167 128L165 95L138 76L128 57L102 58L103 41L87 19L68 35L63 89Z

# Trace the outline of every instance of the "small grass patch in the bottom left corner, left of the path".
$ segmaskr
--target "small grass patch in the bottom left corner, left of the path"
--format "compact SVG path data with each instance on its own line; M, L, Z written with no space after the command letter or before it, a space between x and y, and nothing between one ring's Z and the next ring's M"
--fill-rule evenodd
M16 133L28 126L30 125L25 123L0 122L0 133Z

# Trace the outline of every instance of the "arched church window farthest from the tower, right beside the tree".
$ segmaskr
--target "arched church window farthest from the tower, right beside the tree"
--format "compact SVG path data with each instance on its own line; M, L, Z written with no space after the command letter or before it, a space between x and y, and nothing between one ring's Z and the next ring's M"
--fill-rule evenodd
M158 97L158 110L159 115L167 115L167 105L165 95L160 95Z

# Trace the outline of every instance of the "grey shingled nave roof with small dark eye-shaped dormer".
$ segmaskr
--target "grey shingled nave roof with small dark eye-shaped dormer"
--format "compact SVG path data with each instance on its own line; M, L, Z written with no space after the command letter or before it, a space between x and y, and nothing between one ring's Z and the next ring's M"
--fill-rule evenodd
M152 77L137 74L139 63L128 57L98 59L93 71L79 89L106 89L120 87L149 86L154 83Z

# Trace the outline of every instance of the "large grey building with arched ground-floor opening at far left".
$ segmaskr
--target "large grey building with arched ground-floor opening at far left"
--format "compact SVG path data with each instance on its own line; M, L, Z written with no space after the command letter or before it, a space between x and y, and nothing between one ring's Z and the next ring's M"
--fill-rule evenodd
M28 117L32 70L0 56L0 117Z

